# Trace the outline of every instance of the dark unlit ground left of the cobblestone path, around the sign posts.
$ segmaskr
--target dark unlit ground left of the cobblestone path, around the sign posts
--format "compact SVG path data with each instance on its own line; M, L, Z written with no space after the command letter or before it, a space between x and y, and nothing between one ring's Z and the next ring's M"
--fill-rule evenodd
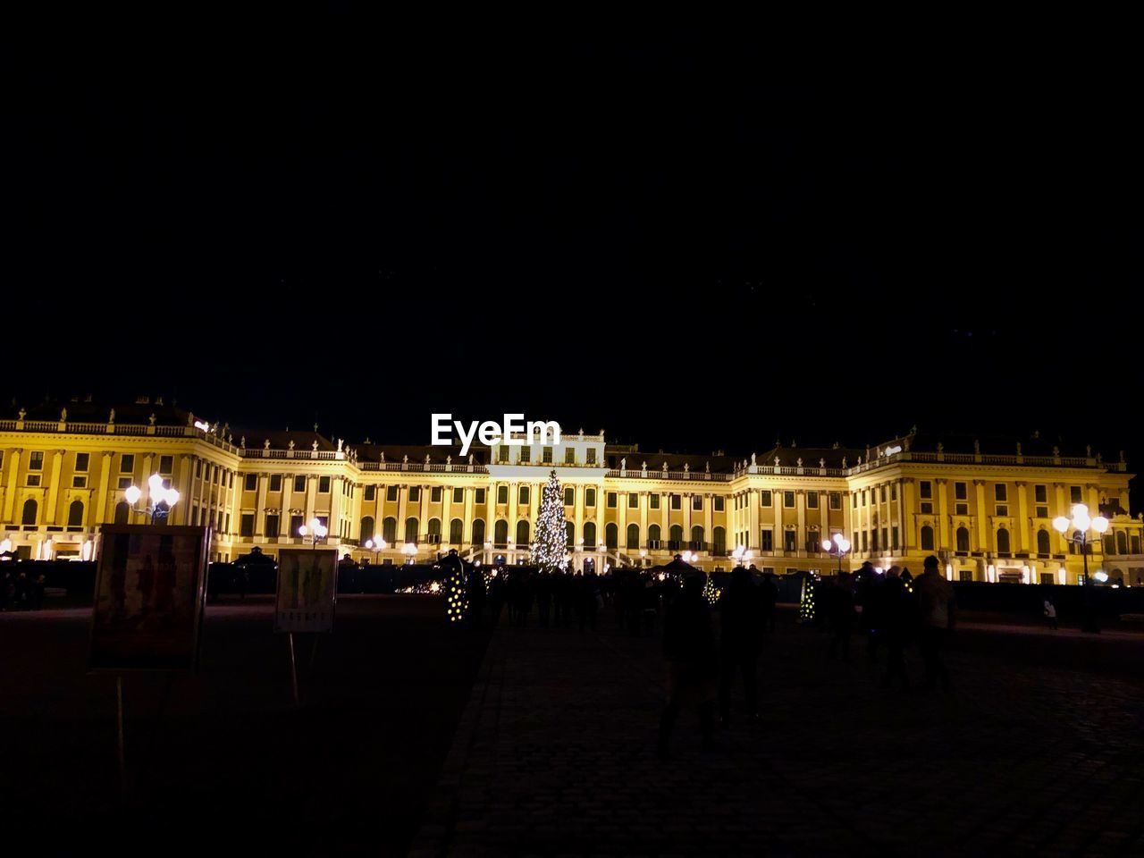
M447 628L436 597L340 597L312 667L313 638L297 638L294 710L271 610L212 605L198 676L125 678L126 804L114 677L86 675L90 609L0 614L0 841L40 855L404 853L487 636Z

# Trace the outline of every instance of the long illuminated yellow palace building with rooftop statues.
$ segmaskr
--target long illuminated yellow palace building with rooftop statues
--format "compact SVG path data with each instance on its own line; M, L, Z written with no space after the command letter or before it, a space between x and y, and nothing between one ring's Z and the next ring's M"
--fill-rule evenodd
M829 574L821 542L842 533L857 569L937 555L959 580L1077 583L1082 561L1052 527L1086 503L1110 521L1090 572L1137 585L1144 521L1128 509L1120 455L1020 440L928 437L866 448L773 446L746 458L652 453L562 435L558 446L459 448L347 444L312 431L232 428L138 399L73 400L0 420L0 537L23 558L90 558L100 525L148 521L146 485L180 492L170 524L208 525L212 559L299 546L313 518L326 542L371 563L428 561L455 548L484 562L526 562L541 488L564 490L577 569L651 565L690 551L706 570L748 562L778 574ZM143 490L133 507L130 486ZM366 543L371 543L371 548Z

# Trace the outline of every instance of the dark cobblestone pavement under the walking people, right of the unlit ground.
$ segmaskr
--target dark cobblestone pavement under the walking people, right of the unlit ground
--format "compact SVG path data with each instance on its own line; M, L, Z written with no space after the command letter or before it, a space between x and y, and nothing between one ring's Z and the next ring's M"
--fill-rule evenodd
M412 853L1144 855L1141 662L1062 668L1040 642L959 631L955 692L928 696L883 690L863 638L844 665L780 625L763 723L737 700L704 753L685 713L661 762L658 634L502 627Z

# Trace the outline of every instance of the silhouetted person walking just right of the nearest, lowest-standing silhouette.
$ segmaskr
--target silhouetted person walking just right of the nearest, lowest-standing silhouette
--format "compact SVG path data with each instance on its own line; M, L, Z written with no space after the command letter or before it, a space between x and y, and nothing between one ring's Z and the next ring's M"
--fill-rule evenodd
M747 717L758 717L755 670L763 637L763 594L750 580L750 571L737 566L731 583L720 596L720 685L722 724L731 720L731 683L736 672L742 675Z

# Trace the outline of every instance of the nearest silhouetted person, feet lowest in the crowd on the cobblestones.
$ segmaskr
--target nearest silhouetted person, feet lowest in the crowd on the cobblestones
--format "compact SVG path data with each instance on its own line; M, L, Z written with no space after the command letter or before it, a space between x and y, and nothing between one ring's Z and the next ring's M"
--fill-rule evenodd
M683 593L672 603L664 622L664 659L667 661L667 705L659 722L657 752L667 756L672 729L684 705L696 705L704 748L715 739L715 636L712 615L702 596L701 575L689 575Z

